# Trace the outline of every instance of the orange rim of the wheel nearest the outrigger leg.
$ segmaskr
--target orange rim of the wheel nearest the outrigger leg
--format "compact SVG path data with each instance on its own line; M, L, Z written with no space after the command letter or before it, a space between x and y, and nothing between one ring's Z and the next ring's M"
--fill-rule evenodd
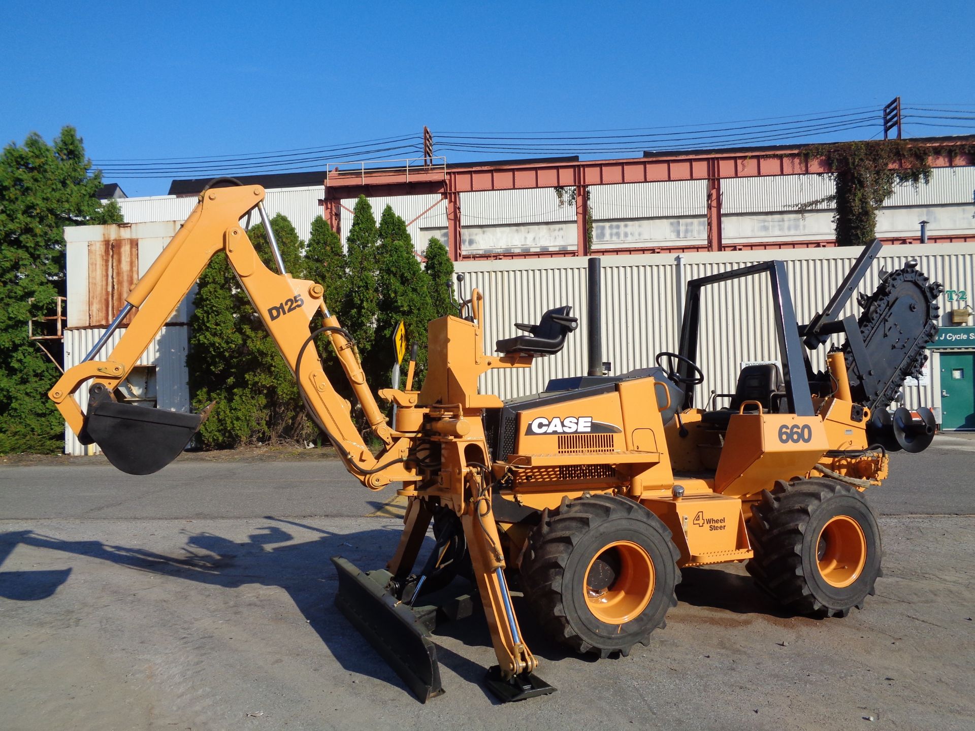
M615 541L589 561L583 592L597 619L622 625L640 616L655 584L653 559L646 550L630 541Z

